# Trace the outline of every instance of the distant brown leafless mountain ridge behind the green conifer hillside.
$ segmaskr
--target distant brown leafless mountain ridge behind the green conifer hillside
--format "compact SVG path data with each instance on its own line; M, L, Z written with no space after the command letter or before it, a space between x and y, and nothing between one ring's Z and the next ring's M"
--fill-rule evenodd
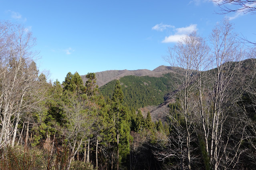
M96 72L96 78L97 78L97 85L99 87L107 84L108 82L120 79L121 77L127 76L127 75L135 75L135 76L149 76L149 77L162 77L163 74L173 72L173 68L169 66L161 65L155 69L148 70L148 69L139 69L139 70L108 70L108 71L101 71ZM85 75L81 75L83 82L85 83L87 81Z

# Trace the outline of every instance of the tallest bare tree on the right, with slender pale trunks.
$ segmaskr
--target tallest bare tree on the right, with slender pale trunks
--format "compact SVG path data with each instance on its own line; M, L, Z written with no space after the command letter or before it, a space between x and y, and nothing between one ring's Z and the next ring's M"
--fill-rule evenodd
M229 142L229 138L224 140L224 135L228 135L224 134L224 123L229 117L231 106L236 103L241 93L239 89L235 89L234 83L240 71L239 61L243 59L244 51L232 30L232 24L228 20L223 20L221 24L217 24L210 36L212 66L216 69L209 71L210 103L212 103L209 114L212 116L207 122L211 123L208 149L214 169L218 168L226 151L226 147L222 147L227 146ZM234 126L229 128L232 131Z

